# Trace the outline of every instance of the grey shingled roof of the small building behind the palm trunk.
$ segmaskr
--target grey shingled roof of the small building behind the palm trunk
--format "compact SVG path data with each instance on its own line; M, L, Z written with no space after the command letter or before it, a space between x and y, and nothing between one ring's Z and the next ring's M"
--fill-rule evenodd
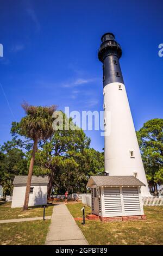
M24 175L18 175L18 176L15 176L14 178L14 181L13 181L13 184L27 184L27 179L28 179L28 176L24 176ZM39 183L39 184L48 184L49 183L49 180L48 180L48 176L32 176L32 181L31 181L32 184L36 184L36 183Z

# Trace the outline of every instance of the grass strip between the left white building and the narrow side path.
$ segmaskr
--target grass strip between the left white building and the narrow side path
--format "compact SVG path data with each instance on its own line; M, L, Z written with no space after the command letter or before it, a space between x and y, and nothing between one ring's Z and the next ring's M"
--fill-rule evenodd
M48 205L45 210L46 216L51 216L54 205ZM31 206L27 211L22 211L22 208L11 208L11 202L0 205L0 220L9 220L12 218L29 218L43 216L42 205Z

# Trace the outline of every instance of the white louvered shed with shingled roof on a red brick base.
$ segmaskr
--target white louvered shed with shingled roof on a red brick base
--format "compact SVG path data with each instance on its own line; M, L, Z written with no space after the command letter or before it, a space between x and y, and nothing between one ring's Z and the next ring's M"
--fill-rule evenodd
M135 176L91 176L92 214L101 221L145 220L141 186Z

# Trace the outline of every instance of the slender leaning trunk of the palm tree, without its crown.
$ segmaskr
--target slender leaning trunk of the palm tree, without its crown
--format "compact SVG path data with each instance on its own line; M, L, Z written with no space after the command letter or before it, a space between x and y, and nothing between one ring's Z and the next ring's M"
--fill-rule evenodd
M28 180L27 180L27 186L26 186L26 195L25 195L25 199L24 199L23 211L28 209L29 192L30 192L30 185L31 185L31 180L32 180L33 166L34 166L34 161L35 161L35 153L37 150L37 142L38 142L38 139L35 139L34 145L33 145L33 150L32 150L32 157L30 159L30 166L29 166L29 172L28 172Z

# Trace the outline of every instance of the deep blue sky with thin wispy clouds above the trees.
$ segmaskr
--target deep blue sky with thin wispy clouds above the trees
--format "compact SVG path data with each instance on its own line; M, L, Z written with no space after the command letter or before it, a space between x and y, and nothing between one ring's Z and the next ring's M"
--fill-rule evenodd
M112 32L135 129L162 118L162 1L1 0L0 144L11 139L12 121L23 115L23 100L70 111L102 111L102 34ZM102 150L100 131L86 131Z

